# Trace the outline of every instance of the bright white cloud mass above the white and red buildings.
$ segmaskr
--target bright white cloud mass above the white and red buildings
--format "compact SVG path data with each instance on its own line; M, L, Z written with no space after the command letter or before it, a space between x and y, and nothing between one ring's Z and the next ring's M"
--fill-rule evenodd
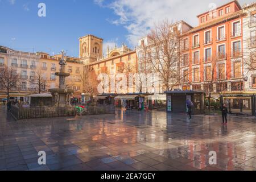
M192 26L197 26L196 15L209 11L212 0L113 0L108 3L104 0L94 0L101 7L112 9L118 19L112 19L113 24L127 29L127 41L135 46L138 38L147 34L155 23L168 19L169 22L184 20ZM220 6L230 0L215 0ZM241 0L243 5L251 0ZM109 19L109 18L108 18Z

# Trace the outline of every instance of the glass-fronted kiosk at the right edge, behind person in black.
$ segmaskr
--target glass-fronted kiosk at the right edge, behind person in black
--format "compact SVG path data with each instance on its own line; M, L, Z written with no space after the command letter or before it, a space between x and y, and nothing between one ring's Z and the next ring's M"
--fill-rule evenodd
M228 106L229 114L255 115L255 93L223 93L220 98Z

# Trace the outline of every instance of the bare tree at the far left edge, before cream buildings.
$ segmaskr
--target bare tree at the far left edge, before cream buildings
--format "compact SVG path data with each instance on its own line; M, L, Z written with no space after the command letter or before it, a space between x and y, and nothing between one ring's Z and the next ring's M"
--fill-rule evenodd
M7 100L10 99L10 90L17 88L19 81L20 76L17 74L15 69L7 66L0 68L0 84L6 89Z

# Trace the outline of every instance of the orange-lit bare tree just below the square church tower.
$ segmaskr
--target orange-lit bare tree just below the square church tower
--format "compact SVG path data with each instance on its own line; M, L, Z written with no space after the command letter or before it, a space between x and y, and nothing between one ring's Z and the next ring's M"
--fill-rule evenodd
M81 75L81 81L83 92L92 100L93 96L98 94L97 86L99 84L93 67L88 65L84 67L84 72Z

